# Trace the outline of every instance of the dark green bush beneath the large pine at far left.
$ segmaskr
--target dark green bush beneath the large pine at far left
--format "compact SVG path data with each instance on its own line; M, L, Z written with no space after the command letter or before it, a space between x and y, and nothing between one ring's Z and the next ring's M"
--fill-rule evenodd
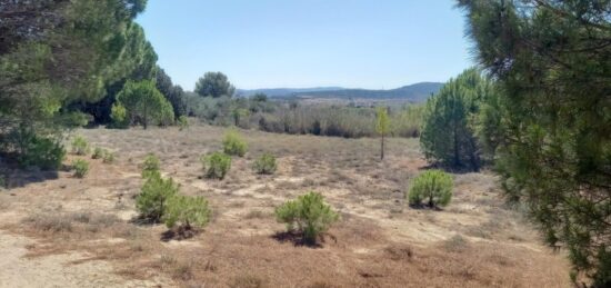
M58 169L66 157L63 146L50 138L31 136L24 139L19 165L21 167L39 167L41 169Z

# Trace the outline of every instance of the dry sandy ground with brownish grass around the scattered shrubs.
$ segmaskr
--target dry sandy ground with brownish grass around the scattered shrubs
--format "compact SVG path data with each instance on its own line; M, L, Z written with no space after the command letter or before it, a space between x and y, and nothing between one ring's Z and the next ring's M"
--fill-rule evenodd
M444 210L409 208L403 192L425 166L417 139L391 139L380 161L375 139L242 131L250 151L218 181L198 159L220 149L222 128L77 133L117 161L90 160L84 179L8 172L0 287L570 287L564 257L503 206L491 175L455 175ZM274 176L251 170L264 151L279 157ZM206 231L168 241L163 226L131 222L148 152L181 192L209 198ZM342 218L318 248L274 238L273 208L308 190Z

